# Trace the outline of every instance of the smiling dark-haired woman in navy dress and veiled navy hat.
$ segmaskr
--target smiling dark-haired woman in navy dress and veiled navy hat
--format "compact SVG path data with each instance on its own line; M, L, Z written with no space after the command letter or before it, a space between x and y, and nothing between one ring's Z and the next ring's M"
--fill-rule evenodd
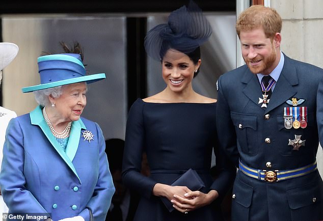
M172 12L145 38L149 56L162 61L166 88L138 99L130 108L123 158L123 182L141 194L134 220L222 220L220 202L232 185L235 169L218 148L216 100L196 93L192 80L201 65L200 44L211 27L193 2ZM210 174L212 149L217 178ZM147 153L150 176L140 173ZM193 191L171 186L195 170L205 187ZM175 208L170 212L162 199Z

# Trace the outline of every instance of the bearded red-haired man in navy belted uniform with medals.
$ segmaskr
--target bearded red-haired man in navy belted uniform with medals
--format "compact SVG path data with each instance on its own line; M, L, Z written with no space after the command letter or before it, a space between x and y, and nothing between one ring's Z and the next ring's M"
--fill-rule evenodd
M323 220L316 165L323 69L287 57L281 29L275 9L241 13L236 31L246 65L218 80L219 140L239 167L232 220Z

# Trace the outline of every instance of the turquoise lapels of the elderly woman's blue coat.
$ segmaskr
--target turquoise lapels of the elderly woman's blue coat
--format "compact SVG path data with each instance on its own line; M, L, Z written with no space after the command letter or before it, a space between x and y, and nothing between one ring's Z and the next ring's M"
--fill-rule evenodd
M43 117L42 109L40 106L36 107L30 113L30 119L33 125L38 125L41 128L41 130L44 132L45 136L47 137L48 141L51 143L51 145L55 148L55 150L59 153L61 158L65 161L65 163L68 165L68 167L73 171L73 173L77 176L78 180L80 181L77 175L77 172L74 168L74 165L72 163L72 160L78 148L78 143L80 139L80 130L82 128L86 129L82 120L79 119L78 121L72 122L70 137L66 147L66 152L64 152L60 144L57 142L55 136L53 136L53 134L51 133Z

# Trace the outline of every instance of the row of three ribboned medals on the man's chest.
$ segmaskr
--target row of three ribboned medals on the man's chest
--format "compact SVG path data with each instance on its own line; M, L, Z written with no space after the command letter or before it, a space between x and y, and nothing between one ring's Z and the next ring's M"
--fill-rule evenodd
M286 129L307 127L307 107L284 107L284 126Z

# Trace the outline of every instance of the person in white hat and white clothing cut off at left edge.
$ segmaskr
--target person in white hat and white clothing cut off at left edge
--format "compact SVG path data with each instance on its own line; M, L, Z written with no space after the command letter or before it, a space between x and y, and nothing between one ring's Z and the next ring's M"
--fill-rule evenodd
M18 46L14 43L10 43L10 42L0 43L0 86L1 86L1 80L2 80L2 70L14 60L14 58L17 56L18 50L19 50ZM0 106L0 167L1 167L2 158L3 158L2 152L3 152L4 143L5 143L6 129L10 119L15 117L17 117L15 112ZM1 190L0 190L1 217L3 217L2 213L4 212L8 212L8 207L5 204L3 197L1 196Z

